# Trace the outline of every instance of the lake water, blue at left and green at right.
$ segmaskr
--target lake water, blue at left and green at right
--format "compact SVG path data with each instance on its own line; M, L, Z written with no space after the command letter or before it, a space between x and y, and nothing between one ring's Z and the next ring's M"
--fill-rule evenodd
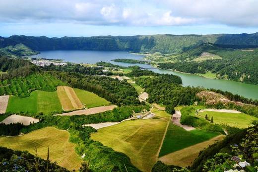
M130 54L123 51L80 51L80 50L55 50L55 51L42 51L41 54L34 55L33 57L41 57L47 59L64 59L67 62L74 63L90 63L104 61L110 62L121 66L138 65L143 68L151 68L147 64L129 64L121 62L113 62L111 60L116 58L126 58L142 60L144 56ZM234 82L229 80L212 80L197 75L183 74L170 70L162 69L149 69L153 72L160 74L174 74L180 76L183 81L183 86L202 86L204 88L216 88L221 90L230 91L235 94L243 95L247 98L258 99L258 85L244 84L241 82Z

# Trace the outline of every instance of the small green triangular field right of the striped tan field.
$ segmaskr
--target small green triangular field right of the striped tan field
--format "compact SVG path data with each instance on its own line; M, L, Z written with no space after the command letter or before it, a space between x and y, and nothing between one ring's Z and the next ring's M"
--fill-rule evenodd
M108 100L98 96L97 94L94 94L93 92L85 91L78 88L73 89L80 99L81 103L84 104L85 107L91 108L110 104Z

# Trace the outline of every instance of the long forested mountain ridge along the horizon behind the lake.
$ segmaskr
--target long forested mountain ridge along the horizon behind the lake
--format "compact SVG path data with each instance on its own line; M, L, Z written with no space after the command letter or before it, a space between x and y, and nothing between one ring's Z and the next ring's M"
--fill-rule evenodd
M0 47L22 43L32 50L108 50L132 52L181 53L203 43L232 48L258 47L258 33L214 35L137 35L62 37L10 36L0 37Z

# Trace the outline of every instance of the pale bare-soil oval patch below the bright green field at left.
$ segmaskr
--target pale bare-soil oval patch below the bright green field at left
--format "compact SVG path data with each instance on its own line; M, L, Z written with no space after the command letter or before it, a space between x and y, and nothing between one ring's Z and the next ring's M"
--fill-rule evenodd
M23 125L30 125L37 122L39 122L39 119L28 117L28 116L11 115L5 118L1 123L4 123L4 124L22 123Z

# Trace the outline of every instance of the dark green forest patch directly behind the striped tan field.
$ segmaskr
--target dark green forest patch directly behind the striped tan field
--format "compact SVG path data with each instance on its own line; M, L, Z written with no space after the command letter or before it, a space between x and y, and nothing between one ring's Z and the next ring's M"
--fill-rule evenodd
M85 77L78 73L50 72L50 74L71 87L94 92L113 104L119 106L140 104L136 89L127 83L127 81L119 81L118 79L112 79L106 76Z

